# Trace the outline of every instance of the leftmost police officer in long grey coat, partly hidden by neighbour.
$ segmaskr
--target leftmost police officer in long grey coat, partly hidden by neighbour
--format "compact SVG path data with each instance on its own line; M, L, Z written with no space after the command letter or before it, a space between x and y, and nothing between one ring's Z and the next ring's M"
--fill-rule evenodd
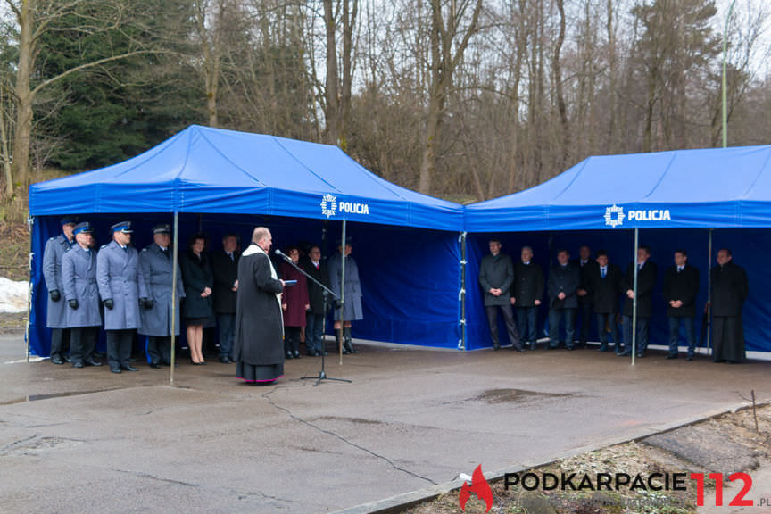
M48 288L47 326L51 328L51 362L63 364L70 361L70 331L67 330L67 311L62 302L62 255L75 245L72 230L78 220L74 216L62 218L62 234L51 237L43 251L43 276Z

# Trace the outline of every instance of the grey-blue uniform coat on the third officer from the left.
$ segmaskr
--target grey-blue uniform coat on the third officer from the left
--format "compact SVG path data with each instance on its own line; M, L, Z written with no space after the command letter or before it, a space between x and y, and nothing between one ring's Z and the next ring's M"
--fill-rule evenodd
M115 241L102 246L96 256L96 284L102 301L112 298L113 303L112 310L104 307L105 330L142 326L139 298L148 296L136 248L123 250Z

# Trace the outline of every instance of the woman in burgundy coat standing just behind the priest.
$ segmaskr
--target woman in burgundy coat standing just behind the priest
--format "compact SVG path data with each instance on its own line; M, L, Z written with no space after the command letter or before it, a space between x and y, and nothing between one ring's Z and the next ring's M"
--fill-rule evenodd
M286 254L294 264L300 261L297 248L287 248ZM281 278L296 280L294 286L286 286L281 297L281 310L284 311L284 352L286 359L300 358L300 329L305 327L305 312L311 309L308 298L308 279L287 262L282 262L278 271Z

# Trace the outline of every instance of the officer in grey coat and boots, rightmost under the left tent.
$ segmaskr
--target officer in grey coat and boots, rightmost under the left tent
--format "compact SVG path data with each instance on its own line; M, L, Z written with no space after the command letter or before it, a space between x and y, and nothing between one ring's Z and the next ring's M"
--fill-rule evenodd
M364 318L364 312L361 309L361 281L359 280L359 266L351 257L353 251L352 238L345 238L345 248L343 241L337 242L337 252L329 257L327 266L329 268L329 288L337 294L341 293L341 278L343 278L343 258L345 259L345 278L342 284L344 294L343 308L335 310L335 337L337 348L343 344L343 353L358 353L353 348L351 335L351 322ZM344 253L344 257L343 257ZM340 341L340 328L343 328L343 341Z

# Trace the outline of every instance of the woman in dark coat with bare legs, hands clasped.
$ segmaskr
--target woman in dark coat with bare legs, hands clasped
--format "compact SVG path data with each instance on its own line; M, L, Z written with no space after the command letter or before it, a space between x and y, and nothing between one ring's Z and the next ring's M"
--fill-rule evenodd
M211 287L214 278L209 267L209 258L203 252L206 240L201 234L190 238L187 252L179 256L182 268L182 282L185 284L185 303L182 313L187 323L187 345L190 347L190 360L195 365L206 364L203 361L203 322L211 318Z

